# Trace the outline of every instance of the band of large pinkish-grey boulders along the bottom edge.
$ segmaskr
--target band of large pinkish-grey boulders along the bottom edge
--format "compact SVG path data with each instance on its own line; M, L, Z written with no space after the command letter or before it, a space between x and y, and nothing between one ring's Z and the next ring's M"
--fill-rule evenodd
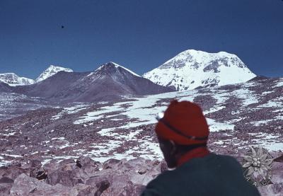
M99 163L80 156L44 166L32 160L23 166L0 167L0 195L140 195L150 180L166 170L165 162L144 158ZM282 195L283 156L272 163L271 183L258 189L262 195Z

